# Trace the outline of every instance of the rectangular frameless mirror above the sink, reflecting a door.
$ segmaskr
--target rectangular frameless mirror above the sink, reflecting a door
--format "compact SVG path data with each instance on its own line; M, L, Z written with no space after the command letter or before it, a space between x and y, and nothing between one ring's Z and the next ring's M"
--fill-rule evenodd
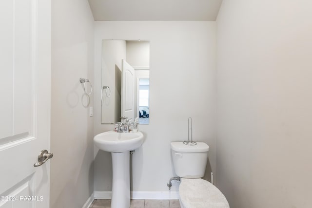
M149 124L150 42L102 41L101 123L138 118Z

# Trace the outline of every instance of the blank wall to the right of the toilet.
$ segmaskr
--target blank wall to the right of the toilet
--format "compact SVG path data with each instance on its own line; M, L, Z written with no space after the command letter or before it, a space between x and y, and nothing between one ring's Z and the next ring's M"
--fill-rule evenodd
M312 2L223 0L217 185L231 208L310 208Z

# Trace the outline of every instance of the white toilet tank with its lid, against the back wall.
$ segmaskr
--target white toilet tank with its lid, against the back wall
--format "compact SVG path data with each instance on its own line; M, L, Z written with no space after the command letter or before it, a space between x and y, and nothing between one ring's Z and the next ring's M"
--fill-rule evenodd
M201 178L205 174L209 146L204 142L186 145L171 142L171 155L176 175L182 178Z

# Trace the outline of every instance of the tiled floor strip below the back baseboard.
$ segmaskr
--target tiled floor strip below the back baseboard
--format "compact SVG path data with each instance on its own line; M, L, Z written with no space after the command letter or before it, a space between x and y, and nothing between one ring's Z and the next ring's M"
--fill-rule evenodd
M110 199L95 199L90 208L110 208ZM179 200L132 199L130 208L181 208Z

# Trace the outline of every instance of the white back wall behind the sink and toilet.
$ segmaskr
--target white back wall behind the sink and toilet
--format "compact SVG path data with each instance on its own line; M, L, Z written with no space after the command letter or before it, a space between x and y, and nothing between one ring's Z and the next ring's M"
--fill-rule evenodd
M112 38L150 40L151 118L149 125L139 125L145 140L132 156L132 189L168 190L167 182L175 175L170 142L187 140L189 116L193 118L193 139L211 148L210 179L210 169L215 171L215 22L96 22L94 134L114 128L100 124L99 111L101 41ZM111 190L110 153L95 148L94 157L95 190Z

